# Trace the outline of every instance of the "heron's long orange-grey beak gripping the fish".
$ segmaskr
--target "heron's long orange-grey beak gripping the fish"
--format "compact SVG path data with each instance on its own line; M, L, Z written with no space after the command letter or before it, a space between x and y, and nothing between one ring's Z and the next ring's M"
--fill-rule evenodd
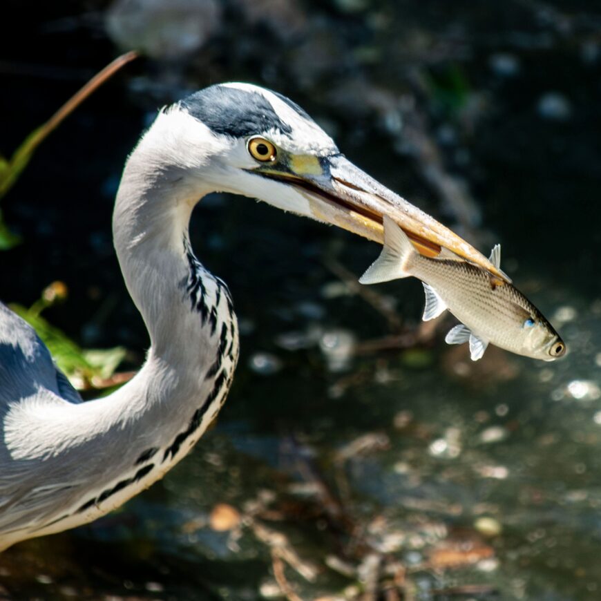
M384 187L343 155L322 158L320 163L321 169L271 172L269 177L286 181L303 193L317 220L383 244L382 222L387 215L408 234L421 254L437 257L446 248L497 278L511 281L463 238Z

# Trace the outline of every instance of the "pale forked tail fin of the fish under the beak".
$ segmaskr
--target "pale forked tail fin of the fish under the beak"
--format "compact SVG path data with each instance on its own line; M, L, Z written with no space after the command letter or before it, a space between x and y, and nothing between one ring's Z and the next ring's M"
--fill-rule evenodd
M406 271L410 256L417 252L407 234L388 216L384 216L384 247L378 258L361 276L361 284L388 282L408 278Z

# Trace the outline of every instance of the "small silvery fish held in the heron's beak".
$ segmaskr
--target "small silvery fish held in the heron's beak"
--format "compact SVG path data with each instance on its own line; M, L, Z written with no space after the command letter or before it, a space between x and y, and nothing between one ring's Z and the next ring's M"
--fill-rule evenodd
M384 216L383 220L384 247L359 279L361 284L419 278L426 293L423 321L448 309L461 323L445 341L469 343L473 361L484 355L489 343L543 361L564 356L566 344L560 335L511 280L502 280L450 251L437 258L422 256L392 219ZM490 263L503 273L500 245L493 248Z

